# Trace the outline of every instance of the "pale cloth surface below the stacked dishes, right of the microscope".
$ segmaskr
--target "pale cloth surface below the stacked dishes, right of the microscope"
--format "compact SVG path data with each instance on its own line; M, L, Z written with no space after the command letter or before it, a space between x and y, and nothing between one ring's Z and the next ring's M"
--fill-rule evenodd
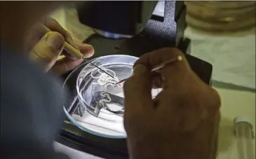
M255 89L255 32L214 36L187 27L191 55L213 64L213 80Z

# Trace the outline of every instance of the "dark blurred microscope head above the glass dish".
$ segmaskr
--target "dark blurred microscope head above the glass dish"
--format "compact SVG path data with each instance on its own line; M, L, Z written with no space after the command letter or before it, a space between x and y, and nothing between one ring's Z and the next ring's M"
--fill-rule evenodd
M85 1L77 6L84 25L103 32L134 36L140 34L157 1Z

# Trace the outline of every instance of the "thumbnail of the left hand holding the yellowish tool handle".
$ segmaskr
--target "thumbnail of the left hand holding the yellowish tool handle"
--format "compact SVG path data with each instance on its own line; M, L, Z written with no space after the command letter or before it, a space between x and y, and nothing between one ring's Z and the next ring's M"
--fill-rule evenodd
M58 32L48 32L46 34L46 41L50 44L50 47L56 51L62 49L65 43L64 37Z

